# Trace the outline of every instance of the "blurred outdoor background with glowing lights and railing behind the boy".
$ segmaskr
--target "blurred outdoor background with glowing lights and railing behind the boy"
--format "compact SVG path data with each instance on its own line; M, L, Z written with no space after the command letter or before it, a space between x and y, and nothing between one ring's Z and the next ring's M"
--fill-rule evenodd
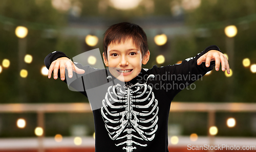
M212 44L228 57L231 74L212 70L174 98L170 149L242 139L255 146L254 0L0 0L0 151L94 151L88 99L48 79L44 59L54 50L102 53L105 30L123 21L147 34L144 68L180 63Z

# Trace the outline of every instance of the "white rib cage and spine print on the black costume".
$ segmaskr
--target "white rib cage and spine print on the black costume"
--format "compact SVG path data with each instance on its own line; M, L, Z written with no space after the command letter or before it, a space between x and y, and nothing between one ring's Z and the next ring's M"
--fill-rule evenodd
M153 74L148 78L154 77ZM147 78L147 79L148 79ZM115 102L114 104L112 100ZM119 84L108 88L102 100L101 114L105 128L116 146L123 145L126 152L147 146L145 141L151 141L158 129L158 101L155 99L152 87L135 84L122 87Z

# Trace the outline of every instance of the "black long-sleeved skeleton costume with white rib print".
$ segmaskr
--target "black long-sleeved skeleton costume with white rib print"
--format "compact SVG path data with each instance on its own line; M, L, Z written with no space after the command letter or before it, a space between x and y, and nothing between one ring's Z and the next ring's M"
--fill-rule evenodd
M76 89L77 84L83 83L82 91L78 91L89 98L94 115L95 151L168 151L170 104L177 93L214 68L215 61L211 61L209 67L204 63L197 65L197 59L209 50L220 51L218 46L210 45L181 64L142 68L136 78L125 83L114 80L109 70L74 62L86 71L70 86ZM60 57L67 56L58 51L50 53L45 58L46 67L49 69ZM64 82L67 83L67 79L66 76ZM101 89L93 90L97 87ZM94 92L93 97L90 91Z

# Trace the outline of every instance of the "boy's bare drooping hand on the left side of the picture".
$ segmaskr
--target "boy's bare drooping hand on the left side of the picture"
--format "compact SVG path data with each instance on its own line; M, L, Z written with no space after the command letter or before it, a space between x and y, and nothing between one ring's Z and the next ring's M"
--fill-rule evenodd
M65 80L65 68L68 69L69 78L73 77L73 72L76 72L78 74L82 74L85 71L83 69L79 69L75 66L75 64L66 57L58 58L57 60L53 61L48 72L48 78L51 78L51 74L53 71L53 79L58 78L58 70L60 70L60 78L61 80Z

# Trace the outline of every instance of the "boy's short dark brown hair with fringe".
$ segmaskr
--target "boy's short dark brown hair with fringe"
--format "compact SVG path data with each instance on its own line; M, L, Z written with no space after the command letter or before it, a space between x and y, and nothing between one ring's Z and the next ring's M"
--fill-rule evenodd
M103 39L105 56L108 57L107 50L111 43L119 44L130 38L132 38L134 46L141 50L143 58L148 50L146 34L140 26L130 22L117 23L106 30Z

